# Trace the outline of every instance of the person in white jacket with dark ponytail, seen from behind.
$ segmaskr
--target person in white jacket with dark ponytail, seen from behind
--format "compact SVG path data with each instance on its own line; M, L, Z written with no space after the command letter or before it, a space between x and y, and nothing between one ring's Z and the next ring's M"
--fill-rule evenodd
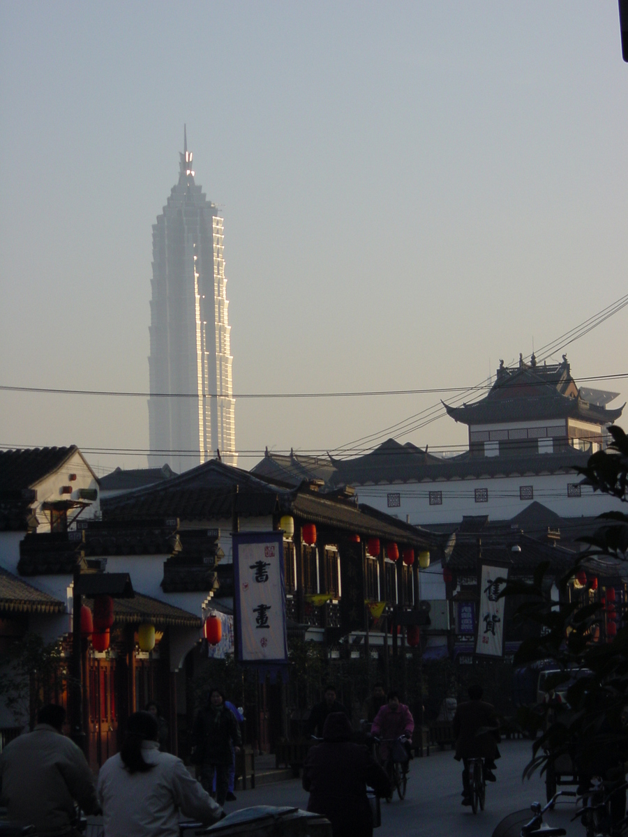
M178 837L179 811L203 824L224 816L181 759L160 752L158 737L151 713L134 712L121 751L100 768L105 837Z

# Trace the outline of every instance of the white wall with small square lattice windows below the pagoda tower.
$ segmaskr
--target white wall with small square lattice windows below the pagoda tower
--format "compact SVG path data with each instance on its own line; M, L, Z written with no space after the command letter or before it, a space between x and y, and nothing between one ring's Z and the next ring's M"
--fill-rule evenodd
M519 499L519 487L533 486L533 501L547 506L561 517L595 517L604 511L622 511L619 500L588 485L581 486L580 497L568 497L567 485L579 483L578 474L522 475L517 477L486 477L473 480L439 482L382 483L357 485L360 503L384 511L394 512L399 520L409 520L414 526L429 523L458 523L463 515L488 515L492 521L510 520L530 505ZM476 488L488 489L488 502L476 503ZM430 491L442 491L442 506L430 506ZM388 507L388 495L399 494L401 505Z

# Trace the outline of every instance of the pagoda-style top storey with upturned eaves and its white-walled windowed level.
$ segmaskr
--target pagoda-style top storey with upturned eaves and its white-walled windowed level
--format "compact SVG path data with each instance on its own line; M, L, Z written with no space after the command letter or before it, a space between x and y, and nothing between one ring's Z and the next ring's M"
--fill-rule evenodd
M486 398L462 407L444 404L452 419L469 428L473 457L559 454L569 449L595 453L605 445L606 427L623 407L607 409L619 393L578 388L567 356L548 366L519 356L517 367L500 362Z

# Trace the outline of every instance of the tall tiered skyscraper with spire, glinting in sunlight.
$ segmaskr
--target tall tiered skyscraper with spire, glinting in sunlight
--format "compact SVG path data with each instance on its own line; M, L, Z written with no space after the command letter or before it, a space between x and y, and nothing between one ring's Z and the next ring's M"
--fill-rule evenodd
M179 179L152 227L150 465L237 464L223 219L194 182L184 129ZM177 393L183 398L164 398Z

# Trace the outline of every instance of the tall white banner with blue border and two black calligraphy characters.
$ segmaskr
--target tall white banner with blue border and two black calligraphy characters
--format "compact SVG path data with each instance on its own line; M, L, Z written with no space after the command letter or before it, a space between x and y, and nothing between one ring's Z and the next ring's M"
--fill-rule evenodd
M234 612L240 662L285 663L286 585L283 533L238 532L234 544Z

